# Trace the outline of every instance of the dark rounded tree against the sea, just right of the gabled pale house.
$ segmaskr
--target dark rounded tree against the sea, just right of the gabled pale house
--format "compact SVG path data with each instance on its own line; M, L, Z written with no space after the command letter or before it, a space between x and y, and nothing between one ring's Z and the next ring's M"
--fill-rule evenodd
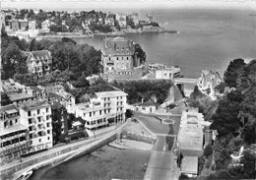
M245 66L245 62L243 59L234 59L231 61L224 72L224 84L231 88L236 88L237 78L239 76L239 72Z

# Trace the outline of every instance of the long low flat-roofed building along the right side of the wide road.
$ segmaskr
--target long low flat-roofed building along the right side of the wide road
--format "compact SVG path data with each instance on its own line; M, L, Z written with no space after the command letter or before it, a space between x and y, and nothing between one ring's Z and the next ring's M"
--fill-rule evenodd
M197 176L198 157L203 154L204 127L210 122L204 120L204 115L198 109L184 111L181 116L177 144L183 155L180 172L188 176Z

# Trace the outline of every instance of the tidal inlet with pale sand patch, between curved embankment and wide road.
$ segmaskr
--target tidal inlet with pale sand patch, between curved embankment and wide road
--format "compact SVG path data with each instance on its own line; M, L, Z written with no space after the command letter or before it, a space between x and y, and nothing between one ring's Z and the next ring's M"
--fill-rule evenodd
M143 179L151 148L146 143L122 140L56 167L40 169L32 180Z

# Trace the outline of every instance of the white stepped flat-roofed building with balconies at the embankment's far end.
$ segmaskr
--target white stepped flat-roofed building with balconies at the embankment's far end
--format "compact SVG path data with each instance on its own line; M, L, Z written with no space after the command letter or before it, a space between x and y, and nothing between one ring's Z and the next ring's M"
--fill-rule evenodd
M86 121L85 127L92 135L96 129L125 120L126 96L123 91L96 92L89 102L76 104L76 117Z

